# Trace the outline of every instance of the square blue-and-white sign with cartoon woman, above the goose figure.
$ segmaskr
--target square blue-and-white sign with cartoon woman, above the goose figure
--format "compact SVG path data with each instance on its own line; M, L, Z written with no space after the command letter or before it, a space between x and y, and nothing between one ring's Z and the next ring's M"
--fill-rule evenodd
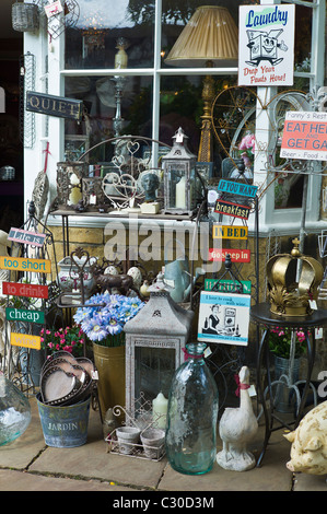
M202 291L200 296L198 340L247 346L249 294Z

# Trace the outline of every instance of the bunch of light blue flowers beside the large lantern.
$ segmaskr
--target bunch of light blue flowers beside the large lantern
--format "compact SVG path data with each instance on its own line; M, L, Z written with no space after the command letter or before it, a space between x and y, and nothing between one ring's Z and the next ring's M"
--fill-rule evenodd
M85 302L87 304L90 306L77 309L73 316L75 323L80 324L91 341L113 347L121 344L121 337L118 336L122 332L124 325L138 314L144 302L138 296L109 294L106 291L91 296Z

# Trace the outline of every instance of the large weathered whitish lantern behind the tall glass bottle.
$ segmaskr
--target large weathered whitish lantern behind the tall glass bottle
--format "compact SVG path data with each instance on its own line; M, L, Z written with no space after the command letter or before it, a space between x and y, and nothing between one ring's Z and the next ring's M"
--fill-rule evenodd
M192 311L182 308L170 295L160 274L149 288L150 300L126 323L126 409L137 417L141 397L148 405L168 397L175 370L184 359ZM160 396L159 396L160 395Z

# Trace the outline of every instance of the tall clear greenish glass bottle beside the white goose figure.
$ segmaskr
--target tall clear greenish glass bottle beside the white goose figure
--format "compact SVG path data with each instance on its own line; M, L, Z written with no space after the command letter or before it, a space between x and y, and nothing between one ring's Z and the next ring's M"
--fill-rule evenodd
M167 409L166 456L175 471L202 475L217 455L218 388L205 362L207 344L186 344L187 360L172 381Z

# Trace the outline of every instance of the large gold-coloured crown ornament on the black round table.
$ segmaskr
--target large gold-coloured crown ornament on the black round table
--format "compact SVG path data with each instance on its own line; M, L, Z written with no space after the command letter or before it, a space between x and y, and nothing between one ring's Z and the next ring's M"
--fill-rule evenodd
M313 313L310 301L317 300L324 276L322 265L301 254L297 237L291 254L278 254L267 262L270 311L280 316L307 316Z

